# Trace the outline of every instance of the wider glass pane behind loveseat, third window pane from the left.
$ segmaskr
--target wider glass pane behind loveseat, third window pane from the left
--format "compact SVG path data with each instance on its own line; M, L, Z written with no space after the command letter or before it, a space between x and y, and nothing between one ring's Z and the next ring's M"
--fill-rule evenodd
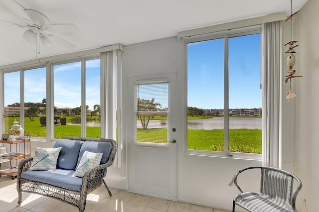
M81 62L54 65L53 80L54 138L81 136Z

